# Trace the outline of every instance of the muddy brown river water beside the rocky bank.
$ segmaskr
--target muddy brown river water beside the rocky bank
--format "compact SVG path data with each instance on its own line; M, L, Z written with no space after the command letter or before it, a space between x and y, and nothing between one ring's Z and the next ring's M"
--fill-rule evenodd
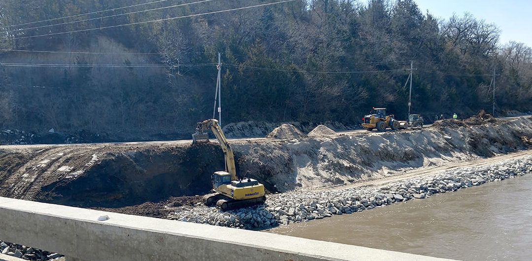
M268 232L461 260L532 260L532 173Z

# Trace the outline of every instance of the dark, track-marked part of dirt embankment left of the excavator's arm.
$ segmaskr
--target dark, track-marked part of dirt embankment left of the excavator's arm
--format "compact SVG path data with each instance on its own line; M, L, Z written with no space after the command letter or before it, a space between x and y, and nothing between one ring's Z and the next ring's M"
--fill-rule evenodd
M122 207L211 189L217 144L0 147L0 195L81 207ZM5 164L4 164L5 163Z

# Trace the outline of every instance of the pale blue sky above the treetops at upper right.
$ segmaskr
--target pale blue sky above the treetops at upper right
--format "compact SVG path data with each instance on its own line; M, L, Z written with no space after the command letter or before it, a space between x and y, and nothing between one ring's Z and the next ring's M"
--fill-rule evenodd
M499 44L510 40L532 47L532 0L414 0L423 14L448 20L453 13L469 12L501 30Z

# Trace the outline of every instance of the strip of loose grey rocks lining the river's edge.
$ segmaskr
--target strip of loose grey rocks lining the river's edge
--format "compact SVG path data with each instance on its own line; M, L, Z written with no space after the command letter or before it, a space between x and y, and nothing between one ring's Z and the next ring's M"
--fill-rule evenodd
M479 167L466 167L433 176L405 179L377 188L347 188L315 192L293 191L268 195L264 205L222 212L198 204L182 208L168 218L242 229L268 229L291 222L349 214L395 202L425 198L438 193L478 186L532 172L532 156Z

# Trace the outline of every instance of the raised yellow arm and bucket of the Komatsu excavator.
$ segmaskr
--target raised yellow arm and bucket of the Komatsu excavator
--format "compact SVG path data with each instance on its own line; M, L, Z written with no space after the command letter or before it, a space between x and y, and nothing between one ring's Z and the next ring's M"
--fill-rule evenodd
M222 128L220 125L218 125L217 119L208 119L201 121L198 123L196 127L196 133L192 135L193 137L193 144L198 143L199 140L205 140L209 141L209 136L204 133L204 131L207 131L210 129L212 133L214 133L214 136L218 139L218 142L220 142L220 146L222 147L223 154L225 154L226 159L226 172L231 174L231 180L237 180L236 177L236 167L235 167L235 155L232 151L231 145L227 141L226 136L222 132Z

